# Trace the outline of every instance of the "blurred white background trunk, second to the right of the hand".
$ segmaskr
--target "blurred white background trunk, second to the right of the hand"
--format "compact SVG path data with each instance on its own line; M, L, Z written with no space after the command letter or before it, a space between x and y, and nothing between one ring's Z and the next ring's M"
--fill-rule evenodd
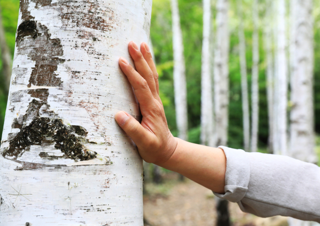
M201 65L201 144L214 147L214 112L211 67L211 0L203 0Z

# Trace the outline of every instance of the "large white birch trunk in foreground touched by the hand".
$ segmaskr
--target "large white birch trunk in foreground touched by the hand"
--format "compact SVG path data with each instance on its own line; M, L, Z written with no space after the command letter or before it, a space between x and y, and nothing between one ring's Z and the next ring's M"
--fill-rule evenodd
M148 41L151 0L20 0L0 156L0 226L141 226L140 119L118 58ZM131 62L132 63L132 62Z

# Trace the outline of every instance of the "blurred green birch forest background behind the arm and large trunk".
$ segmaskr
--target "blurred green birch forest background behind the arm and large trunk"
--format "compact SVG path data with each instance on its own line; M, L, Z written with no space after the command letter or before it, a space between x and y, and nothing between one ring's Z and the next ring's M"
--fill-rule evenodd
M18 10L19 0L0 0L0 134ZM320 1L153 0L150 32L174 136L319 163ZM210 192L144 169L146 225L216 224ZM226 225L299 224L227 210L217 210L230 212Z

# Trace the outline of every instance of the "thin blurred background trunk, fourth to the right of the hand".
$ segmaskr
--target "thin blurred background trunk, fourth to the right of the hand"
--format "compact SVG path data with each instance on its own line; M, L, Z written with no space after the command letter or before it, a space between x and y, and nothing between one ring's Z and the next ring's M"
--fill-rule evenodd
M241 94L242 94L242 117L243 117L243 139L244 150L250 150L250 119L249 119L249 100L248 100L248 81L246 73L245 57L245 36L243 30L243 9L242 0L237 0L237 12L239 18L238 37L239 37L239 59L241 71Z

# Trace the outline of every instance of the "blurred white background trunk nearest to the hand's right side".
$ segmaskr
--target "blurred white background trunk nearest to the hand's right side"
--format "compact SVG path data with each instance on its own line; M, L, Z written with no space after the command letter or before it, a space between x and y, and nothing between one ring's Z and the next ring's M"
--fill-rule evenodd
M173 38L173 83L175 118L178 129L178 138L187 141L187 106L186 81L183 56L183 40L180 27L180 16L177 0L171 0L172 38Z

